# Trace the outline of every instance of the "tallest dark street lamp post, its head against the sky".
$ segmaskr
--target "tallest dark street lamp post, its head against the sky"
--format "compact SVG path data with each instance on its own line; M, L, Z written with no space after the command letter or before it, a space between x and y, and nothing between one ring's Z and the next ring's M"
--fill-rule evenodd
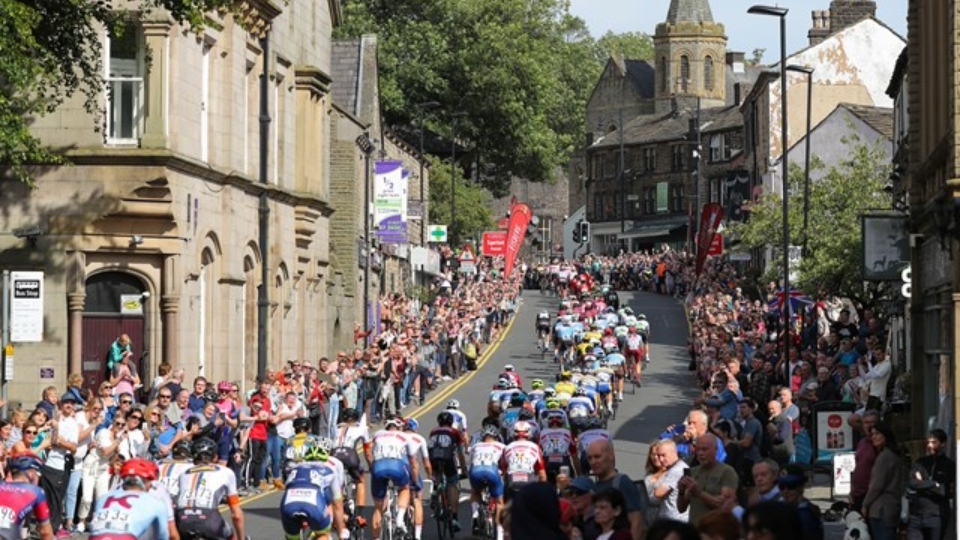
M787 13L790 10L778 6L750 6L747 13L780 18L780 165L783 189L783 358L790 361L790 215L787 202L789 182L787 173Z

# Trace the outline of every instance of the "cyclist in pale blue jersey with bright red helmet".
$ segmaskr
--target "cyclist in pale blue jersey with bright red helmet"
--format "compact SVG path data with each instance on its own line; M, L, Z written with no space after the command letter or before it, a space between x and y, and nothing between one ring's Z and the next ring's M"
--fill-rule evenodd
M119 489L100 497L93 507L90 540L169 540L170 510L150 495L157 465L131 459L120 469Z

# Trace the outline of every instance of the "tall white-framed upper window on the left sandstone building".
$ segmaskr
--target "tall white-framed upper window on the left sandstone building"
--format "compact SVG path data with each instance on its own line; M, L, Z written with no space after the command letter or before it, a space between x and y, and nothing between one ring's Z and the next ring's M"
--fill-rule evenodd
M104 43L108 144L137 144L143 134L144 47L139 28L107 32Z

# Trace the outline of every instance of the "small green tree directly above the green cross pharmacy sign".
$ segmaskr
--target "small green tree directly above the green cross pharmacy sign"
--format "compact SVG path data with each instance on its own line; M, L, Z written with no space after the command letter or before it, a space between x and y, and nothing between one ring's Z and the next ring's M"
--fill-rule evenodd
M483 187L468 182L457 168L456 216L450 221L450 162L430 157L430 223L446 224L447 239L452 246L490 230L490 194Z

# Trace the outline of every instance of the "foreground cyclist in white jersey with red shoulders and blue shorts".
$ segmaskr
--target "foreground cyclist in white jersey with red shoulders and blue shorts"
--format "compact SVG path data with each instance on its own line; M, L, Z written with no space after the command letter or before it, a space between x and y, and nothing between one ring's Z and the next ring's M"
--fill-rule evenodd
M370 487L373 492L373 537L380 537L383 513L386 511L387 487L393 482L397 489L397 522L401 533L405 533L404 516L410 505L410 480L417 478L420 468L416 460L416 447L413 440L403 431L403 419L391 416L384 429L373 436L373 460L370 463Z

